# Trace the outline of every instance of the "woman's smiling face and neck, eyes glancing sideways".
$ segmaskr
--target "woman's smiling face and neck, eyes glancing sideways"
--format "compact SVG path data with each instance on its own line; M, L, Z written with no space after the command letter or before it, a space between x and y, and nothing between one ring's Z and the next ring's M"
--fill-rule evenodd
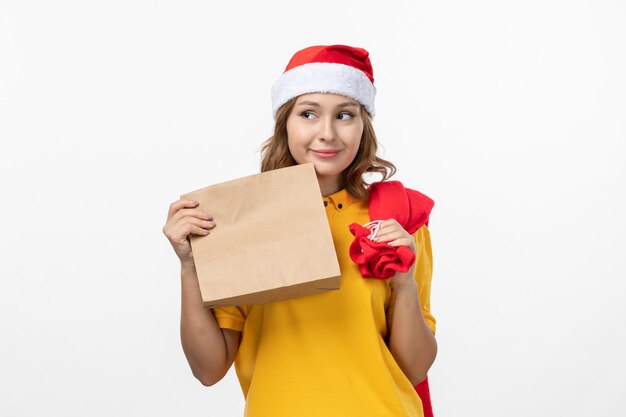
M338 94L304 94L287 118L289 151L298 164L313 163L322 191L337 191L363 135L361 105Z

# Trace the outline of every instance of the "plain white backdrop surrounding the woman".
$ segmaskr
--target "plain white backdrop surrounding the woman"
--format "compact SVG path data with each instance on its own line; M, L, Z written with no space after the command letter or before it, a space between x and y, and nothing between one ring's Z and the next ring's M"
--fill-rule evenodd
M298 49L365 47L430 195L435 414L626 407L622 1L0 1L0 414L240 416L180 347L184 192L258 172Z

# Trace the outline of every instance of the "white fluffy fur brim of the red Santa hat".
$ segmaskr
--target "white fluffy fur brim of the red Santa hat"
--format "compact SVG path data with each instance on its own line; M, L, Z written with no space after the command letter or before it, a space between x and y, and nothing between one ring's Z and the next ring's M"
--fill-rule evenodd
M312 62L283 73L272 86L272 115L292 98L308 93L335 93L365 106L374 117L376 87L362 71L344 64Z

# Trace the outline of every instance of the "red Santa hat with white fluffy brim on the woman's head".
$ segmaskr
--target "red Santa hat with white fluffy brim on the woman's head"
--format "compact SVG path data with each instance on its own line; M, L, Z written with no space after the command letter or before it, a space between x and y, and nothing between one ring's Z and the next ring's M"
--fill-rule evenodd
M374 117L374 70L369 52L346 45L310 46L294 54L272 86L272 114L307 93L335 93L363 104Z

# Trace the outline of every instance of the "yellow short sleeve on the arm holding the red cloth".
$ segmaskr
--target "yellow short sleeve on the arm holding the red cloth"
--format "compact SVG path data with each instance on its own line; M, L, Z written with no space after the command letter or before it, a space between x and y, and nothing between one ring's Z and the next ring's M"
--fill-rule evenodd
M417 247L415 257L415 281L417 282L422 314L424 315L428 327L435 333L437 321L430 312L430 287L433 276L433 253L430 243L430 231L426 226L422 226L413 234L413 237L415 238ZM391 324L392 316L393 302L390 303L387 311L388 326Z

